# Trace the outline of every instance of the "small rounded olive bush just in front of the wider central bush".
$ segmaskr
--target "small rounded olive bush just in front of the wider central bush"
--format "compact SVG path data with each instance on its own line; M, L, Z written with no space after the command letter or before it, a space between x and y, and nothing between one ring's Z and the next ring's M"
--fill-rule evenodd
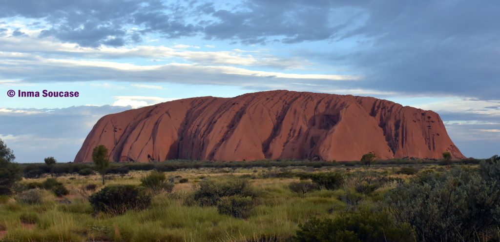
M252 208L253 199L250 196L223 196L217 202L217 211L220 214L237 218L247 218Z

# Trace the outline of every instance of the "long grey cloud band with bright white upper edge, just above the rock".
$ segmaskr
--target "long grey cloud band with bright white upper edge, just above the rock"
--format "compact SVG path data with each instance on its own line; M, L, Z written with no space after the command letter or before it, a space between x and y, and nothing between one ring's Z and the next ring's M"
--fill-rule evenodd
M115 49L109 49L112 52ZM80 51L76 49L75 51ZM118 49L118 51L121 51ZM251 70L243 67L167 63L138 65L117 61L45 57L44 55L0 52L0 78L16 79L26 83L72 81L129 81L172 82L183 84L236 85L248 89L269 88L269 85L287 89L303 88L309 91L348 89L347 82L356 82L360 76L345 74L309 74L291 71Z

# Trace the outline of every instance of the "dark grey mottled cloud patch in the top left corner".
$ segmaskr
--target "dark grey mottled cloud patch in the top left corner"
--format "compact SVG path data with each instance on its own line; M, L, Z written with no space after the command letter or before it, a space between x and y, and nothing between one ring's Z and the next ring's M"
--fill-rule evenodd
M43 21L47 28L41 37L53 36L81 46L121 46L126 41L137 40L135 32L126 31L127 25L140 28L138 32L155 31L165 37L192 35L197 29L195 26L171 15L181 14L185 9L180 3L164 4L159 0L4 0L0 17L22 16Z

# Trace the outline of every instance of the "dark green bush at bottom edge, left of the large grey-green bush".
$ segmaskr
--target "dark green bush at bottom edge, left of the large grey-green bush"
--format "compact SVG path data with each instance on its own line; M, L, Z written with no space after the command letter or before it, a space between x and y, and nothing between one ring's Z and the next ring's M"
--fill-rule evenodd
M311 218L299 225L295 241L411 241L407 228L393 225L390 214L360 208L334 219Z

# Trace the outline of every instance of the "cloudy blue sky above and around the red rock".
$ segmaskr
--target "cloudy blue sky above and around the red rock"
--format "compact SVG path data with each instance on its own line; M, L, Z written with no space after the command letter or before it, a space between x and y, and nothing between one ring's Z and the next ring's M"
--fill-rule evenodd
M498 12L465 0L2 0L0 138L17 162L67 162L108 113L287 89L434 110L465 156L490 157Z

